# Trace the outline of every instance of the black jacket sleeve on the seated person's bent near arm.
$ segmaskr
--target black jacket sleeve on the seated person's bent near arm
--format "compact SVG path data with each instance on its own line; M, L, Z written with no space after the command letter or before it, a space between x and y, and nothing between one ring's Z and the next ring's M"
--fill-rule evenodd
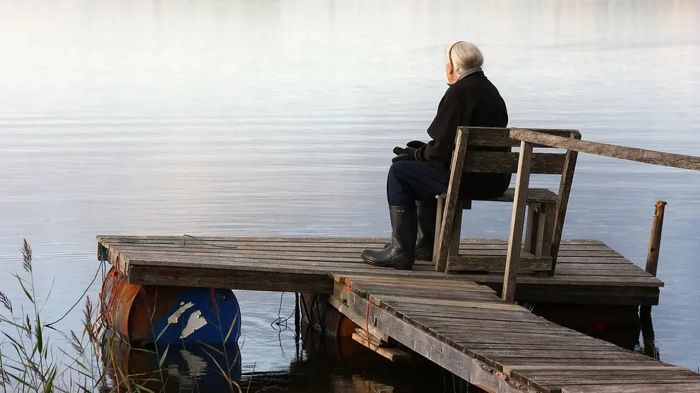
M428 142L419 154L421 161L426 161L437 166L447 167L452 159L454 150L454 137L457 136L457 127L464 121L465 108L454 92L445 92L438 113L433 119L433 123L428 127L428 135L433 140Z

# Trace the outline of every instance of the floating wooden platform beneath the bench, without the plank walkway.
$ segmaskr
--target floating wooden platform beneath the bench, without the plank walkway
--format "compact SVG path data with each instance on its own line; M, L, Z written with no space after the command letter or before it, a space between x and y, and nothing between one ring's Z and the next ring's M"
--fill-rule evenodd
M128 244L109 238L151 244ZM503 275L435 272L430 262L418 261L411 272L382 269L363 263L363 249L382 247L387 239L201 237L200 240L236 249L219 249L178 237L99 236L109 249L109 262L119 266L134 284L222 287L330 294L329 275L390 275L471 280L500 292ZM465 255L505 255L502 239L462 239ZM646 273L598 240L562 241L552 277L521 275L517 301L535 303L656 305L663 282Z

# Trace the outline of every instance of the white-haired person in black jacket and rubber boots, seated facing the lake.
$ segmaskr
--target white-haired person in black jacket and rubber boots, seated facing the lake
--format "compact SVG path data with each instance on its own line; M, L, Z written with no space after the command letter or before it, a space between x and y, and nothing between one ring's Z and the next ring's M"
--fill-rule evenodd
M449 87L428 127L432 140L427 144L412 141L405 148L394 149L397 156L392 159L387 176L391 242L384 249L362 252L363 260L370 265L411 270L416 259L432 261L435 196L447 192L457 127L507 127L505 102L481 70L483 55L478 47L454 42L447 45L445 54ZM460 196L500 196L510 180L509 173L464 173Z

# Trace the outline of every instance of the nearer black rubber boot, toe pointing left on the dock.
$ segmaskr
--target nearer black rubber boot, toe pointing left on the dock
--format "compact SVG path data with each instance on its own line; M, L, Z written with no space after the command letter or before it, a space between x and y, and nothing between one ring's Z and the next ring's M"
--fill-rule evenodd
M389 206L392 241L389 247L362 251L362 259L373 266L411 270L416 247L416 206Z

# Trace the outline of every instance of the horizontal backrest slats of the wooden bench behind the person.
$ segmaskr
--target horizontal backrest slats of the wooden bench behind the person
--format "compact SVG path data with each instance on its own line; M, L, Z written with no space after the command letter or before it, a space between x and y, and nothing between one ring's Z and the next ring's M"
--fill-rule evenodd
M520 146L518 139L510 137L510 128L494 127L458 127L457 134L467 136L466 154L464 155L464 172L517 173L519 153L510 151L483 151L480 149L509 148ZM546 130L528 128L544 134L581 139L577 130ZM562 175L565 172L566 151L555 153L558 149L535 145L543 152L532 154L530 173L544 175ZM501 149L509 150L509 149Z

